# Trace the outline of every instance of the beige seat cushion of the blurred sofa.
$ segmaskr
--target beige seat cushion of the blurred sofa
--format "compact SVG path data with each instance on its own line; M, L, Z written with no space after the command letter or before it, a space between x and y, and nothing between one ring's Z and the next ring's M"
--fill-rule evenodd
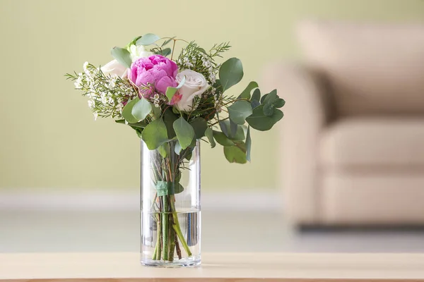
M424 168L424 118L341 119L322 132L319 154L323 168Z

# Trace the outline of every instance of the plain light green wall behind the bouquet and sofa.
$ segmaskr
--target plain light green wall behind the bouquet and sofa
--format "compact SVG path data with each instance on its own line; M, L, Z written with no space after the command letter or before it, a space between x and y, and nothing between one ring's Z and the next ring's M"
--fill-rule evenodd
M424 20L422 0L0 0L0 188L134 188L139 141L130 128L93 121L64 73L110 61L110 48L146 32L230 41L245 80L264 63L298 57L305 18ZM235 90L240 90L236 88ZM280 125L281 126L281 125ZM278 128L253 133L252 164L202 148L204 190L278 187Z

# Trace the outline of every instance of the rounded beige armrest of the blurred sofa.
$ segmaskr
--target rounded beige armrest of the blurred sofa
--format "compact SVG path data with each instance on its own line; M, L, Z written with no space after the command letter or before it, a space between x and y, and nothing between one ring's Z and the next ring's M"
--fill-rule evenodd
M305 66L283 63L265 68L261 87L278 90L285 99L284 118L279 128L281 185L284 212L295 224L317 223L319 219L319 134L334 117L322 75Z

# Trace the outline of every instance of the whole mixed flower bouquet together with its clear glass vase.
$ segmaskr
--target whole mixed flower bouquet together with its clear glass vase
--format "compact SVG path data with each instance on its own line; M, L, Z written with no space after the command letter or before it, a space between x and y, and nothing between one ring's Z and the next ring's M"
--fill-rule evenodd
M175 45L184 44L175 56ZM168 47L169 46L169 47ZM151 33L113 61L66 74L88 97L95 118L112 117L141 138L141 262L151 266L200 264L200 141L223 147L225 158L250 161L250 130L270 130L283 118L276 90L257 82L232 96L242 62L220 63L228 43L203 49L196 42Z

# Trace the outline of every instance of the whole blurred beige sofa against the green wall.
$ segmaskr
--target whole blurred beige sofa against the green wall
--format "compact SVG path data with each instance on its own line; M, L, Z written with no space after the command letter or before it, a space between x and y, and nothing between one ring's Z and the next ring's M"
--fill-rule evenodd
M286 100L284 211L298 225L424 223L424 25L303 23Z

